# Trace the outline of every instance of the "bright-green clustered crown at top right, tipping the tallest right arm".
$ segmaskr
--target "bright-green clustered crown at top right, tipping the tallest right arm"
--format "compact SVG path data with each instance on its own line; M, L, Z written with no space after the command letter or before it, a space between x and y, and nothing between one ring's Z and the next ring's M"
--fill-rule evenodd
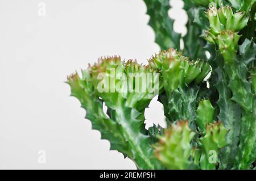
M221 6L217 10L214 5L209 7L207 17L209 28L205 31L205 39L209 43L216 43L224 60L232 62L236 58L240 39L237 32L246 26L249 18L245 12L239 11L234 14L229 6Z

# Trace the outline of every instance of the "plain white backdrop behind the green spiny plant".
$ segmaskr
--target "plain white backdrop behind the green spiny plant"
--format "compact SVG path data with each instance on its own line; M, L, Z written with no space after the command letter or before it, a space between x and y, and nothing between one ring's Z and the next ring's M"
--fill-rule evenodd
M184 35L183 3L171 5ZM0 0L0 169L136 169L92 130L64 81L100 56L146 63L159 51L148 20L142 0ZM164 126L156 98L146 119Z

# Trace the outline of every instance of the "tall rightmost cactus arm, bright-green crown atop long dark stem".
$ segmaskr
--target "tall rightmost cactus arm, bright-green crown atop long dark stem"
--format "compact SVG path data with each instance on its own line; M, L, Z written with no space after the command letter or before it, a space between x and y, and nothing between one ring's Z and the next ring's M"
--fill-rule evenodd
M210 6L207 11L210 28L207 31L206 39L210 43L218 45L224 62L217 62L220 73L219 77L224 75L225 86L228 86L232 92L230 99L237 103L241 110L240 116L240 145L237 149L237 157L234 163L234 167L238 169L249 169L251 163L255 159L253 151L255 149L255 117L254 112L254 96L251 91L251 83L247 81L248 68L246 64L253 61L255 58L255 52L252 52L248 57L243 57L242 52L246 52L246 45L251 45L248 41L240 47L240 55L237 56L238 40L240 36L238 31L242 30L248 22L249 17L246 12L236 12L229 7L220 7L216 9L215 6ZM251 48L251 46L249 46ZM245 48L245 50L243 50ZM246 59L246 61L244 61ZM222 68L223 67L223 68ZM222 72L222 73L221 73ZM220 75L222 74L222 75ZM216 89L220 89L216 85ZM221 90L218 90L219 94L222 94ZM221 98L221 96L220 96ZM224 99L224 100L227 100ZM229 107L232 108L233 103L229 103ZM221 107L223 105L218 105ZM225 120L226 121L226 120ZM233 128L233 132L237 129ZM228 141L229 142L229 141ZM234 144L234 142L233 142Z

